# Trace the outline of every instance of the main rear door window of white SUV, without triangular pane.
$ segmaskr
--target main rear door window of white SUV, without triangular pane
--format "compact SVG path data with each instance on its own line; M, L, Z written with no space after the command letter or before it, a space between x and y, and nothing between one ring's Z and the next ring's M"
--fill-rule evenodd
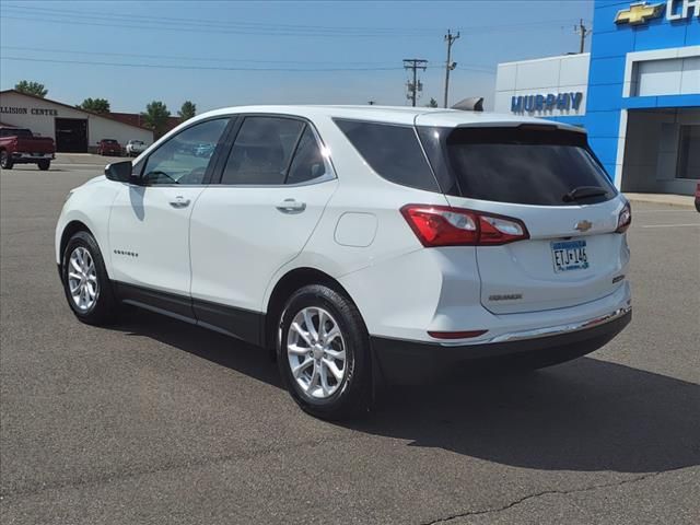
M233 143L221 184L284 184L304 122L292 118L246 117Z

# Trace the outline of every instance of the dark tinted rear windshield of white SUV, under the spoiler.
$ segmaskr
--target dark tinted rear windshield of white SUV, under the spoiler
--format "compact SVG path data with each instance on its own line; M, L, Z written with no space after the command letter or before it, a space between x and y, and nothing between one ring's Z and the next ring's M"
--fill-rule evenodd
M454 179L454 186L445 192L537 206L594 203L616 195L605 171L588 150L585 133L555 126L525 125L442 129L441 132L424 128L420 135L425 140L432 136L444 137L441 148L432 144L427 151L431 162L436 155L444 155L435 159L435 163ZM604 192L572 200L570 196L576 188L602 188Z

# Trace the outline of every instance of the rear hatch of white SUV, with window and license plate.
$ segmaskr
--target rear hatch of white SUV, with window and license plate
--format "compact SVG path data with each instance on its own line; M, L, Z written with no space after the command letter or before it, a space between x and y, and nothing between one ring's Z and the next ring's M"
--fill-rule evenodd
M487 310L574 306L621 285L628 250L615 231L626 201L585 133L521 125L419 128L419 135L452 207L512 218L527 229L528 238L477 246Z

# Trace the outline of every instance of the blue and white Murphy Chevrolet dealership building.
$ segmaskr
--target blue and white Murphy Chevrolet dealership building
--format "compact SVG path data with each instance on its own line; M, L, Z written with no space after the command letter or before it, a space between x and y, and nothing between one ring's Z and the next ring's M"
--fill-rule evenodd
M700 179L700 0L596 0L591 52L500 63L495 110L584 127L623 191Z

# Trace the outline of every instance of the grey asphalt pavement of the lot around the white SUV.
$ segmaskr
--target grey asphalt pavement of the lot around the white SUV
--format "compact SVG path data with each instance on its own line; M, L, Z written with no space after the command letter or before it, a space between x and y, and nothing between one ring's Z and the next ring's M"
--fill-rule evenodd
M698 523L700 214L634 206L633 320L591 357L304 415L264 351L75 320L54 258L100 171L0 174L3 524Z

